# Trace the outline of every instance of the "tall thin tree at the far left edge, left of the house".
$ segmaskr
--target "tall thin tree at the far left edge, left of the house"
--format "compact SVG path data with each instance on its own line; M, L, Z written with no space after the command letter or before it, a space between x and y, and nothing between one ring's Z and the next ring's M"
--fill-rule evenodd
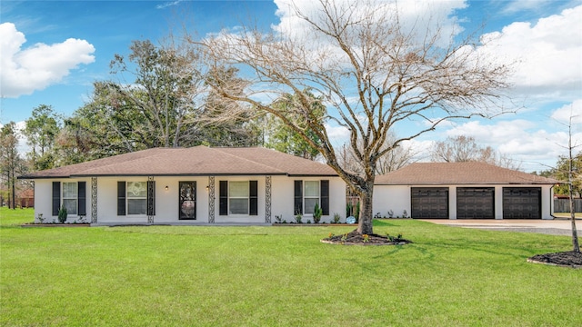
M17 147L16 124L10 122L0 130L0 169L12 209L15 209L16 203L16 176L25 169L25 162L20 158Z

